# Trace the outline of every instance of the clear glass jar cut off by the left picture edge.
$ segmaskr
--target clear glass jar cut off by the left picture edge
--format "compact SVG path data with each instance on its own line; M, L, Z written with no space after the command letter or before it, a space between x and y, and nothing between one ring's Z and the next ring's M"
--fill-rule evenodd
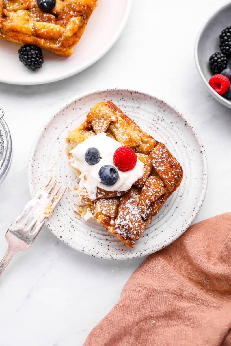
M0 108L0 185L7 176L12 161L10 131L3 116L4 111Z

